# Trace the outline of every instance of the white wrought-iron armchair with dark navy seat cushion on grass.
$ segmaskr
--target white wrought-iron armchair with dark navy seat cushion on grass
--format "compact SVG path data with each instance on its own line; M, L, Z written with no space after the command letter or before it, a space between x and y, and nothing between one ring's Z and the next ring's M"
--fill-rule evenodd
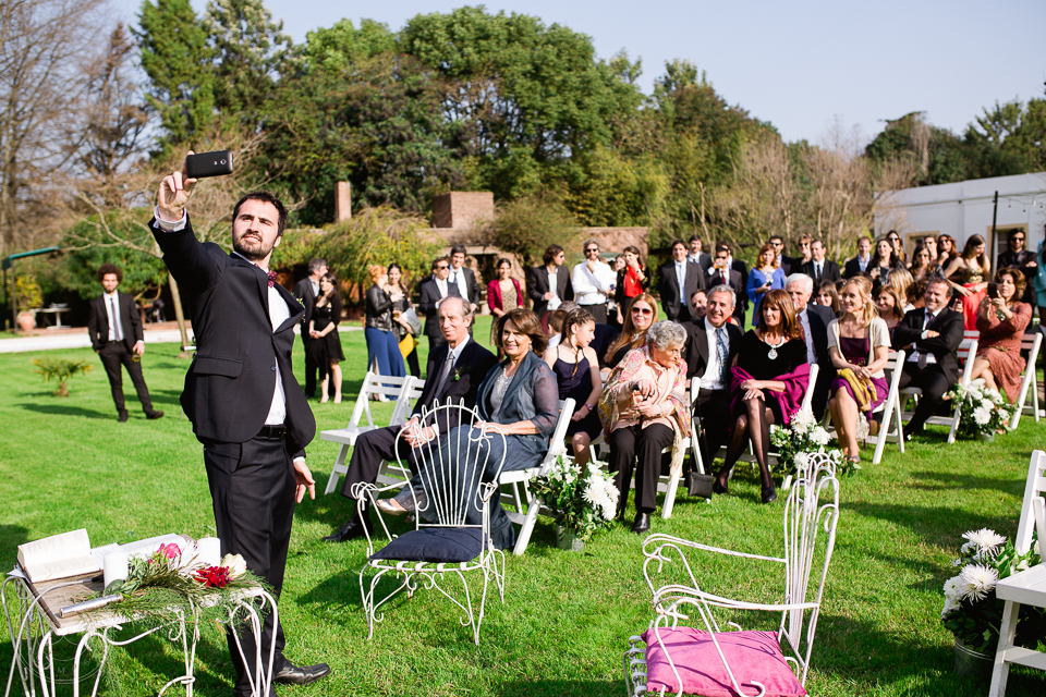
M410 487L414 500L415 528L398 537L389 535L379 513L381 527L390 542L375 552L367 536L368 559L360 570L360 594L367 615L367 638L374 636L375 622L381 622L385 617L385 613L379 614L378 609L403 589L406 589L408 597L413 597L421 578L426 588L435 588L464 612L461 623L472 627L473 639L478 645L487 587L491 580L498 589L498 597L504 602L504 552L495 549L490 540L489 508L490 497L497 490L498 475L504 465L504 435L487 432L475 436L474 430L466 427L479 420L479 416L463 404L445 404L431 412L424 409L422 415L440 421L440 432L445 436L439 448L422 449L419 453L421 496L414 487ZM462 428L452 430L450 425L453 423ZM398 438L403 438L406 432L404 429ZM500 439L501 456L492 461L490 449L483 445L497 439ZM399 464L401 468L408 468L403 462ZM361 482L353 487L352 493L362 508L367 499L370 504L375 503L376 491L374 485ZM469 496L473 491L478 493L477 498ZM376 505L373 508L380 511ZM481 514L481 524L466 522L472 511ZM369 583L366 580L368 572L374 573ZM465 577L469 573L483 576L478 609L473 608ZM399 585L379 600L376 597L378 582L388 574L394 575ZM447 575L460 579L464 589L463 601L440 585Z

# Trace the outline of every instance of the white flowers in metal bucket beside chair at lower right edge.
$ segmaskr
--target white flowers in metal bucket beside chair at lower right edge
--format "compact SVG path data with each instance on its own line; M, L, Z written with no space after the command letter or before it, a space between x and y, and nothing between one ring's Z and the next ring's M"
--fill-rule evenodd
M1013 543L995 530L982 528L962 535L959 559L951 565L961 567L958 576L945 582L945 607L940 621L956 638L956 673L985 676L992 670L995 649L1002 625L1002 600L995 586L1034 564L1038 559L1038 541L1025 554L1018 554ZM1017 625L1017 643L1025 640L1034 647L1046 628L1046 610L1022 607Z

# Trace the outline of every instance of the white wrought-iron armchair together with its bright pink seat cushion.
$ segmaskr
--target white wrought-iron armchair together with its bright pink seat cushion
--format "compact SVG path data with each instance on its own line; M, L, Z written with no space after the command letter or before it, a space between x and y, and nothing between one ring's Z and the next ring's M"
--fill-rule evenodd
M732 689L752 697L766 688L801 694L838 519L835 465L827 455L814 454L784 504L781 558L725 550L668 535L647 537L643 573L653 594L656 617L647 632L629 639L624 655L629 694L721 694ZM746 601L702 588L697 577L703 566L694 558L705 553L747 559L765 566L761 577L779 579L779 599ZM661 574L669 583L657 578ZM716 614L727 611L777 613L780 623L776 632L722 632ZM704 631L680 625L691 615L696 615L695 624L704 625ZM786 646L792 656L783 655Z

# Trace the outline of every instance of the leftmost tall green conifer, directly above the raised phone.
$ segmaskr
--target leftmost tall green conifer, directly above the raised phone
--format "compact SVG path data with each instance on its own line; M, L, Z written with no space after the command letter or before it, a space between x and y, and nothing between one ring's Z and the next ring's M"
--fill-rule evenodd
M214 49L188 0L144 0L138 28L146 99L159 115L154 155L169 157L174 144L209 134L215 121Z

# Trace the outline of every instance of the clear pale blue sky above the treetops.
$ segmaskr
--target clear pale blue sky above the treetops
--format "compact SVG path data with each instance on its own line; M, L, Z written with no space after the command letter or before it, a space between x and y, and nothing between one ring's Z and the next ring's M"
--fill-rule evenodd
M113 0L135 22L139 0ZM206 0L193 0L202 11ZM399 29L412 16L464 2L350 3L266 0L295 42L348 17ZM476 3L478 4L478 3ZM884 119L925 111L961 133L996 100L1043 97L1044 0L516 0L487 2L587 34L600 58L621 49L642 58L647 94L665 62L684 58L707 71L730 103L770 121L787 140L820 142L839 119L868 139Z

